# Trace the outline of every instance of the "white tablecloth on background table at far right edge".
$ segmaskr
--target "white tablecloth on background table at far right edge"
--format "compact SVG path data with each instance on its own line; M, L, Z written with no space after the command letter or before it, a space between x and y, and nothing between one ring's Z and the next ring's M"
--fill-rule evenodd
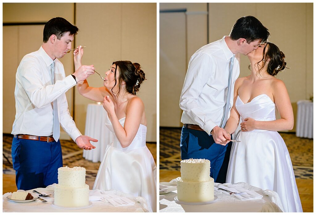
M313 138L313 102L297 102L296 137Z

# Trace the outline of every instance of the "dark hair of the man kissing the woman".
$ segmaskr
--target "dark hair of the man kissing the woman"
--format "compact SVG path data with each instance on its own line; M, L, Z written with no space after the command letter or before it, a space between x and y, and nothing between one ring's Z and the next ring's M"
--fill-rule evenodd
M235 22L232 27L232 31L229 34L229 37L232 40L244 38L248 44L258 39L260 39L262 43L266 42L269 36L270 33L268 29L253 16L244 16L239 18Z

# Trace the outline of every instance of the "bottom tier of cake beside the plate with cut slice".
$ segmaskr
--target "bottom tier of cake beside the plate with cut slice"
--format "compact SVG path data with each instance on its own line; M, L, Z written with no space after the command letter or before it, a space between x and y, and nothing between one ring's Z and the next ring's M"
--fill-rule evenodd
M54 188L54 204L60 207L84 207L89 205L89 185L83 188L62 187Z

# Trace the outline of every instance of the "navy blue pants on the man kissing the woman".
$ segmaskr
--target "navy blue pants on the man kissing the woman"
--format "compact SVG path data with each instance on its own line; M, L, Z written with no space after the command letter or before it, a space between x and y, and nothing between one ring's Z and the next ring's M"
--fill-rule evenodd
M213 136L205 131L182 127L180 140L181 159L204 158L210 160L210 177L214 178L214 181L216 181L222 167L227 146L228 144L226 146L216 144Z

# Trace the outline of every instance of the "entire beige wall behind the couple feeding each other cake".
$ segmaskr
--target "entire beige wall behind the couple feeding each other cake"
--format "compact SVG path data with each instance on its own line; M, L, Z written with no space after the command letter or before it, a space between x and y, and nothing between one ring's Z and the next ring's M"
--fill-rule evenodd
M74 14L76 7L76 16ZM47 9L49 8L49 9ZM27 9L27 10L26 10ZM61 16L75 24L79 32L75 46L84 45L84 64L94 64L97 72L104 73L116 60L138 62L147 80L138 96L145 104L148 121L147 141L156 141L156 4L155 3L4 3L3 22L46 22ZM76 19L74 18L76 17ZM15 116L15 73L22 57L39 49L43 26L3 26L3 132L11 133ZM8 43L7 43L8 41ZM11 44L9 43L11 42ZM14 45L12 45L14 44ZM62 60L66 74L73 73L72 55ZM90 76L91 86L100 87L100 78ZM73 95L73 92L75 94ZM8 93L5 93L8 92ZM88 103L77 90L67 92L72 115L75 100L75 122L84 134ZM62 133L65 138L68 136Z

